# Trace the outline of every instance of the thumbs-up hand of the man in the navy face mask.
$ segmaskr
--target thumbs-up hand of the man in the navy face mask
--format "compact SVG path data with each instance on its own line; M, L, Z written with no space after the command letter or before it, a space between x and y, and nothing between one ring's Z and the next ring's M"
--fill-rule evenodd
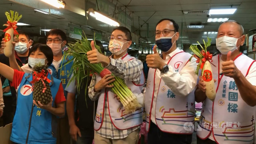
M156 45L153 48L154 54L149 54L146 57L146 61L149 68L158 68L160 71L166 65L164 60L160 57L156 50Z

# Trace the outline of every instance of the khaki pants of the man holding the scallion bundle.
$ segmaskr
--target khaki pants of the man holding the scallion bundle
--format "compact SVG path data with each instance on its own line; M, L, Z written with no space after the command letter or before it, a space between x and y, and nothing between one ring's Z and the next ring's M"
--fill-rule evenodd
M139 141L139 129L128 134L127 137L123 139L108 139L98 135L94 131L94 143L95 144L137 144Z

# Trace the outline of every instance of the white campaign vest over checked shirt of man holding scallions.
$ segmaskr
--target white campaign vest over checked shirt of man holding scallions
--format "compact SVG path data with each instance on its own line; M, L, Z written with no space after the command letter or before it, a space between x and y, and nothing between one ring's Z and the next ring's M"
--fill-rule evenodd
M123 57L123 61L129 61L135 59L134 57L129 56L126 54ZM96 75L97 82L101 80L101 77L99 75ZM145 83L144 74L141 74L141 82L140 84L133 84L132 81L124 80L125 84L131 88L132 93L141 93L140 86ZM105 92L103 92L105 91ZM129 129L135 126L139 126L142 124L142 114L143 114L143 108L140 108L139 110L131 113L131 114L125 114L125 109L122 105L122 103L118 102L114 98L114 93L110 89L102 90L100 93L100 97L98 100L98 106L96 111L96 116L94 120L94 129L96 131L100 130L103 122L103 115L104 115L104 107L105 107L105 98L107 95L108 99L108 112L111 119L111 122L113 125L119 129L119 130L125 130Z

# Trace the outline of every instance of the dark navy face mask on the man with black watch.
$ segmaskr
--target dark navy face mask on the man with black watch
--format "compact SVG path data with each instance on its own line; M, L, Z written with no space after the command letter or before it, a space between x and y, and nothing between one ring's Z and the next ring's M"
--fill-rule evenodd
M176 34L176 33L175 33ZM174 35L175 35L174 34ZM174 36L173 35L173 36ZM173 36L168 36L168 37L159 37L156 39L156 45L157 47L163 51L163 52L168 52L172 48L172 37ZM175 43L175 42L174 42Z

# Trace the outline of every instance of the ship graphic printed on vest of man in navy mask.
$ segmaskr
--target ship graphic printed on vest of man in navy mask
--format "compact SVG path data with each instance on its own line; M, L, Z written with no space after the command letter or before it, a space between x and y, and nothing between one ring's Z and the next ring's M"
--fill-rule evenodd
M191 105L193 105L193 104L194 103L191 103ZM165 108L164 108L164 106L162 106L159 109L159 112L163 113L163 115L161 116L161 118L156 118L156 119L163 121L162 124L184 126L184 125L180 125L180 124L175 124L173 122L194 122L194 120L193 121L182 120L182 119L186 119L188 117L195 116L195 114L191 108L188 110L188 102L187 102L186 108L187 108L187 110L181 110L181 111L176 111L175 108L169 108L169 110L164 111ZM147 116L147 118L148 118L148 116Z

